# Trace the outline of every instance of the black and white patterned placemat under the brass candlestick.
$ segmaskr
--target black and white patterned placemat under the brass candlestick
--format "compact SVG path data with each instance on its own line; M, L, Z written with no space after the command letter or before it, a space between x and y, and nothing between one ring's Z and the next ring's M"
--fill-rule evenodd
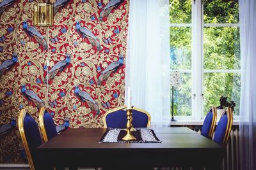
M136 129L132 135L133 141L124 141L125 129L108 129L100 139L99 143L161 143L152 129Z

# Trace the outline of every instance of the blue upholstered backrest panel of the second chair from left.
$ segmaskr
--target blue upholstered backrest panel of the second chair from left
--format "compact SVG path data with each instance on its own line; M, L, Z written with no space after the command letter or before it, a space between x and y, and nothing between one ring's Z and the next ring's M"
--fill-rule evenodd
M46 110L44 113L44 127L48 140L57 136L56 127L52 119L52 116Z

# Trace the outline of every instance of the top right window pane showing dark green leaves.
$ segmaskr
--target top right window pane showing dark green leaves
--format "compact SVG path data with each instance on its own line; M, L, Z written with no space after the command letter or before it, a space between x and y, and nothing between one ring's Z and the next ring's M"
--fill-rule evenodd
M239 23L238 0L204 0L204 23Z

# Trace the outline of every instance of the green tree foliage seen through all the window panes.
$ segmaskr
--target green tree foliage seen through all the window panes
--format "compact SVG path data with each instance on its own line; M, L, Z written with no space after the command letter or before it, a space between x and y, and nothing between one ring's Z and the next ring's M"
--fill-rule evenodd
M170 0L170 23L191 23L191 0ZM237 24L237 0L204 0L204 23ZM214 70L240 69L239 27L204 27L204 115L227 96L239 114L240 73ZM191 69L191 27L170 27L171 69ZM208 73L210 72L213 73ZM191 73L181 74L182 86L175 89L175 115L191 115Z

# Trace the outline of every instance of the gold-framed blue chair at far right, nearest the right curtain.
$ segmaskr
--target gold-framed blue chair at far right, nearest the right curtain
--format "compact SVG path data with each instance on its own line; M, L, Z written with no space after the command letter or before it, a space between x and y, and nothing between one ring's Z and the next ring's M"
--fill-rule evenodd
M226 145L232 129L232 123L232 108L227 108L227 110L222 113L220 121L218 122L213 141L220 145Z

